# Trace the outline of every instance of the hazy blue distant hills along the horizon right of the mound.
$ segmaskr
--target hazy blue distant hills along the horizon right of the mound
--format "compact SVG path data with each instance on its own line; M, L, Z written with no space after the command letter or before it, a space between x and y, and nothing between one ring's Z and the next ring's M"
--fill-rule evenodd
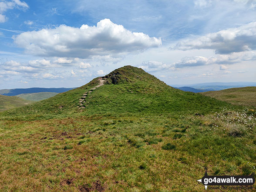
M198 83L198 84L180 84L180 85L171 85L172 87L190 87L195 89L204 89L204 90L212 90L219 91L223 89L229 88L242 88L242 87L254 87L256 86L256 82L212 82L212 83Z

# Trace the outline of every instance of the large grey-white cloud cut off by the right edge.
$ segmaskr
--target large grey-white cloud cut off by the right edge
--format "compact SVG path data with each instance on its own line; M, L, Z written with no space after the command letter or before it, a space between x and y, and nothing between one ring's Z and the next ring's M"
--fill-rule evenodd
M174 49L212 49L216 54L256 50L256 22L206 34L197 39L183 40Z

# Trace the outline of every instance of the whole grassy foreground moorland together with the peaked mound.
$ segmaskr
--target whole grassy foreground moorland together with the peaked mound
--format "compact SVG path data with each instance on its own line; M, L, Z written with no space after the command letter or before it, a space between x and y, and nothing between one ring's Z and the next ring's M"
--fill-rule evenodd
M204 191L204 166L209 175L254 171L255 117L121 67L0 113L0 191Z

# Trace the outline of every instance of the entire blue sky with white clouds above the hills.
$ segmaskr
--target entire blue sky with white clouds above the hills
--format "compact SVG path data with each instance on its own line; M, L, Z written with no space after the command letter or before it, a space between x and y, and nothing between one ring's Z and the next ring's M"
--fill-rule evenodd
M0 89L125 65L169 85L256 82L256 0L0 0Z

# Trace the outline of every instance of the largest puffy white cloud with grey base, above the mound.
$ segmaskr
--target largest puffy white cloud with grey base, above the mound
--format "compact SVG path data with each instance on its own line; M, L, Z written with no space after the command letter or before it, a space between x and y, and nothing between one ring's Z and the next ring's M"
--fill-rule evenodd
M131 32L109 19L101 20L92 27L61 25L54 29L28 31L13 39L27 53L45 57L88 58L143 51L162 44L161 38Z

